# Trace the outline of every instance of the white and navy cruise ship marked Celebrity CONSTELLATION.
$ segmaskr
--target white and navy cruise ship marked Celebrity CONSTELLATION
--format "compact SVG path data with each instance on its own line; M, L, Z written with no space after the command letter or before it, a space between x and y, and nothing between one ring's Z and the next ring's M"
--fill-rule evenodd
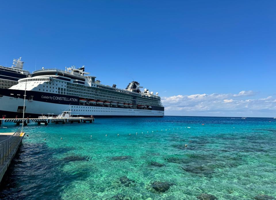
M70 107L72 115L84 117L163 117L164 107L158 93L132 81L125 89L103 85L89 76L85 66L60 70L34 71L9 89L0 89L0 116L33 118L51 113L58 115Z

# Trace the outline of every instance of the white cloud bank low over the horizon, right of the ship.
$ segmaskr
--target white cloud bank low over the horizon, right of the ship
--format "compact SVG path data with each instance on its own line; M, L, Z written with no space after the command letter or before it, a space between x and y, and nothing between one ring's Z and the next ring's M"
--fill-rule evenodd
M238 94L176 95L161 100L165 115L275 117L276 99L251 97L256 94L250 90Z

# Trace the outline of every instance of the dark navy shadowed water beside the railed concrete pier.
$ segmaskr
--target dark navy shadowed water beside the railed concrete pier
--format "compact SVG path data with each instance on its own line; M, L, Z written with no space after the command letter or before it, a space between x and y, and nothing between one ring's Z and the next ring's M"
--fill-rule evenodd
M22 143L1 181L0 199L61 199L64 186L80 176L70 177L62 172L59 166L68 160L57 160L53 154L71 149L52 149L45 143Z

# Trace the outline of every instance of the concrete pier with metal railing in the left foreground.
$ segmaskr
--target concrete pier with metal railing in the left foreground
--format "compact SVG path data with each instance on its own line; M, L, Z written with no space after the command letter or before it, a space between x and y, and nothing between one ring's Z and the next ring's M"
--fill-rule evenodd
M14 158L25 133L0 133L0 182Z

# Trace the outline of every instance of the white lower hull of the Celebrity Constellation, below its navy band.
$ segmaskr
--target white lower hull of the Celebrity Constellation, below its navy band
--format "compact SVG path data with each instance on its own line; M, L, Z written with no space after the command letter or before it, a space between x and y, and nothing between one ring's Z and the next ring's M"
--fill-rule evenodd
M9 118L15 118L16 115L22 115L24 99L14 98L9 96L0 97L0 115L6 115ZM28 101L25 100L25 117L37 117L53 113L60 114L68 109L68 104L50 103L43 101ZM71 114L79 116L95 116L95 117L163 117L164 111L132 109L132 108L115 108L102 106L87 106L87 105L71 105ZM1 116L0 116L1 117Z

